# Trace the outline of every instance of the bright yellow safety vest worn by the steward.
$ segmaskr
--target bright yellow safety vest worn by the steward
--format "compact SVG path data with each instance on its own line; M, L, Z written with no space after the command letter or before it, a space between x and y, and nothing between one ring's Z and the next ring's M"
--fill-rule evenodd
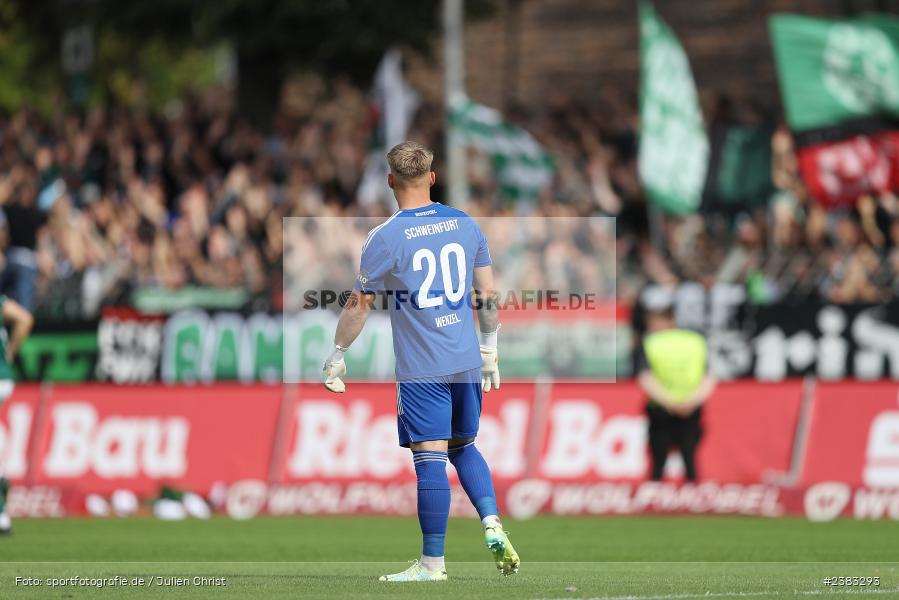
M705 376L708 349L695 331L666 329L643 338L649 369L676 401L696 391Z

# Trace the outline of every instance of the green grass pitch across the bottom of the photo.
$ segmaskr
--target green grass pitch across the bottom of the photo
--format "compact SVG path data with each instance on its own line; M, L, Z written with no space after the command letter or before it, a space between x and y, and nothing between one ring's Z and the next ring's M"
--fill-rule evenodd
M541 517L505 525L522 557L517 576L497 574L476 520L451 519L449 581L389 584L378 575L419 553L414 518L21 519L0 538L0 598L899 598L899 522ZM73 576L144 585L46 583ZM841 576L879 577L880 585L823 583ZM44 583L17 585L16 577Z

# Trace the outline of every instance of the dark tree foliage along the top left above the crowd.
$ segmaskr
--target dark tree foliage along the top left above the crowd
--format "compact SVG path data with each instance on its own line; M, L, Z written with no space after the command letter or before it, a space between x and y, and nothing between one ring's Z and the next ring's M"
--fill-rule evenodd
M467 16L488 14L492 2L468 0ZM27 33L28 59L57 73L61 37L74 26L115 39L121 53L103 58L119 64L107 68L140 68L147 47L166 56L226 43L238 57L241 103L255 99L270 110L291 71L368 85L389 47L428 54L440 7L437 0L0 0L0 29Z

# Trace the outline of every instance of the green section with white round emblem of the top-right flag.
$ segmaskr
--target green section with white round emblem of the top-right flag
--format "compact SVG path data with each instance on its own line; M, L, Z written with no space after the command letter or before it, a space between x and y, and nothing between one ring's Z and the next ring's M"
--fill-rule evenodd
M899 117L899 20L770 20L787 121L794 131Z

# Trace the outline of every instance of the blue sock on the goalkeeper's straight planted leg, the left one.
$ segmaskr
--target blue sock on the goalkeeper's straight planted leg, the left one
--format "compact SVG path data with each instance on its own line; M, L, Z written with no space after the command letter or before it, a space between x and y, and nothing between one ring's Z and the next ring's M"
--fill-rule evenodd
M418 477L418 523L421 525L424 556L443 556L446 520L449 518L449 479L446 476L446 452L413 450Z

